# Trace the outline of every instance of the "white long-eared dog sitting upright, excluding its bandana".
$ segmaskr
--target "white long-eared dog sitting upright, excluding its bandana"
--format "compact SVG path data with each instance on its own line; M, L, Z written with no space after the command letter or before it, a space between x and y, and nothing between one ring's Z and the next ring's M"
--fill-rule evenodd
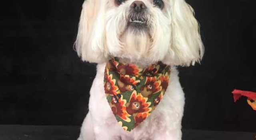
M75 47L82 60L98 63L78 140L181 140L185 98L175 66L200 62L204 54L194 11L184 0L86 0ZM142 69L158 62L171 66L158 107L131 132L106 99L105 68L112 58Z

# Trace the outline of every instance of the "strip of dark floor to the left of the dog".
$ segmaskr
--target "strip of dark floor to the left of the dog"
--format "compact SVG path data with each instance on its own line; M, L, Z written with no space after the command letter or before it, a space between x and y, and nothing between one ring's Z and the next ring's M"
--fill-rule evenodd
M0 140L76 140L79 126L0 125Z

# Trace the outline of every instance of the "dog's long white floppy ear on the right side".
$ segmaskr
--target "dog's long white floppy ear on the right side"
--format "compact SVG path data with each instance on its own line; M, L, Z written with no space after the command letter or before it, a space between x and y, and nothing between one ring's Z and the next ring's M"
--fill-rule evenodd
M164 59L165 63L189 66L200 62L204 46L194 10L184 0L174 0L171 17L171 46Z

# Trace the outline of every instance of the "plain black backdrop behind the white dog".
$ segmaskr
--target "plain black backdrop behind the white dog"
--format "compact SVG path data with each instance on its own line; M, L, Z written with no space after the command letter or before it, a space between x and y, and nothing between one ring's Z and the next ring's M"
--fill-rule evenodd
M256 91L251 0L187 0L201 25L201 65L180 69L185 129L256 132L256 111L235 88ZM1 8L0 124L80 125L96 64L73 50L83 0L10 0Z

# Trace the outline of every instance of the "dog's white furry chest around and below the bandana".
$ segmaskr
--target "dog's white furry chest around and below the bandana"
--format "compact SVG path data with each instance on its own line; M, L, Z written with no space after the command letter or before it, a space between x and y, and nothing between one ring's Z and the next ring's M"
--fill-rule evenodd
M109 107L108 101L106 100L103 81L105 66L106 64L99 64L97 66L97 75L90 90L89 110L92 113L92 116L94 116L95 123L106 127L110 133L116 133L119 136L124 137L122 140L130 140L134 138L145 138L150 140L152 132L164 131L168 125L166 122L170 120L174 120L173 122L175 122L175 116L177 116L177 112L175 110L177 109L174 109L174 106L183 107L183 101L175 99L176 95L172 97L172 93L170 93L172 91L167 89L165 95L166 98L163 98L162 102L159 103L158 107L151 113L151 115L139 126L134 128L132 132L125 132L116 121L116 118ZM178 78L175 78L174 76L173 80L170 81L172 84L169 85L168 88L177 88L175 87L176 79ZM182 93L182 90L180 89L178 94ZM183 97L183 94L182 96L177 97Z

